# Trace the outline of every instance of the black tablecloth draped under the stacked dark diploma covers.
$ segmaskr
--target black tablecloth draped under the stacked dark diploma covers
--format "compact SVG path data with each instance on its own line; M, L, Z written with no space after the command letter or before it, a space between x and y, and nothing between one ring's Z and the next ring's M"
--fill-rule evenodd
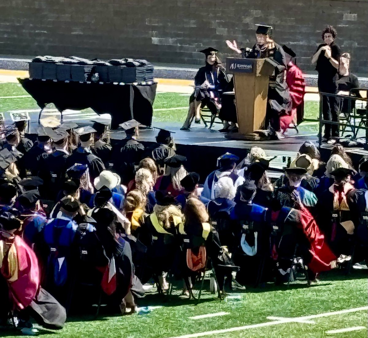
M40 79L18 79L40 108L53 103L60 112L65 109L92 108L97 114L110 114L112 129L132 118L151 126L153 101L157 84L64 82Z

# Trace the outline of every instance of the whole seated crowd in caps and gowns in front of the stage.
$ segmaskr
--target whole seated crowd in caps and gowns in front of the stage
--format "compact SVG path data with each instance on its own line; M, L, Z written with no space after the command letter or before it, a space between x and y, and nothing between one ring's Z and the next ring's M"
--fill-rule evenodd
M25 123L0 151L3 326L61 328L101 299L133 313L146 283L193 296L210 272L221 296L367 259L368 160L356 171L341 145L322 163L306 141L276 181L262 148L226 153L201 180L166 130L144 147L128 121L112 147L100 122L40 125L34 141Z

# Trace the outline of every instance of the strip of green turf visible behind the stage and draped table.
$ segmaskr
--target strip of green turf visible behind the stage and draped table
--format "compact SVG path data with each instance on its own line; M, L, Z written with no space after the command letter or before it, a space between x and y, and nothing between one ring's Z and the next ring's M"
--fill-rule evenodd
M38 109L32 97L5 98L7 96L23 96L28 93L17 83L0 83L0 112L17 109ZM188 113L189 95L180 93L158 93L153 105L153 122L184 122ZM318 116L319 103L305 102L305 118L315 119ZM162 109L170 110L162 110ZM177 109L173 109L177 108ZM301 131L317 132L318 124L312 122L302 123Z

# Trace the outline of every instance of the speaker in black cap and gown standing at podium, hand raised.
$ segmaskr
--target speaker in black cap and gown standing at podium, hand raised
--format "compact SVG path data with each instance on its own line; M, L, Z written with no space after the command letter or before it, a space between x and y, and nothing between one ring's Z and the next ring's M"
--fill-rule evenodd
M265 127L271 127L280 134L280 115L288 114L292 108L289 89L286 83L286 57L283 48L272 39L272 27L256 25L257 42L250 48L238 48L236 42L226 41L227 46L245 58L272 58L275 61L275 72L270 76L268 87L268 104Z

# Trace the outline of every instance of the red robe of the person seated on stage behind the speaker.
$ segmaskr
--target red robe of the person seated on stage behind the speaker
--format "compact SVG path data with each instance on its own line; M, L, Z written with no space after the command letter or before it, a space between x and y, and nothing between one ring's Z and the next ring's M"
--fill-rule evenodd
M293 105L291 109L291 114L280 116L280 129L282 132L286 131L290 123L296 124L297 107L304 101L304 76L302 71L291 61L287 65L286 83L289 87L289 93Z

